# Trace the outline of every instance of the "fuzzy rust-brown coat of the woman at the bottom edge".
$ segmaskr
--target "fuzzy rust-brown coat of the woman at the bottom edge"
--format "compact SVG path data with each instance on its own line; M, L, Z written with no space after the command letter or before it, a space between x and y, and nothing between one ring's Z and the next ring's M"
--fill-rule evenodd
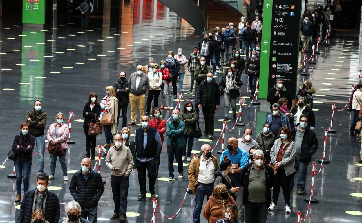
M235 205L236 202L229 194L229 198L224 204L217 201L211 194L210 199L206 202L203 215L209 223L216 223L217 220L224 218L224 209L227 205Z

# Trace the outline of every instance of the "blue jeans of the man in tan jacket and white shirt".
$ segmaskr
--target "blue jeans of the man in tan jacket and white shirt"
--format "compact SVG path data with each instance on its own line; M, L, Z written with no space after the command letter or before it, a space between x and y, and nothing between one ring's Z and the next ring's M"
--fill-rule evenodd
M208 185L200 184L200 187L196 189L195 207L193 215L194 223L200 223L200 214L203 205L203 200L205 196L206 196L206 201L209 200L209 197L212 194L212 190L214 190L214 183Z

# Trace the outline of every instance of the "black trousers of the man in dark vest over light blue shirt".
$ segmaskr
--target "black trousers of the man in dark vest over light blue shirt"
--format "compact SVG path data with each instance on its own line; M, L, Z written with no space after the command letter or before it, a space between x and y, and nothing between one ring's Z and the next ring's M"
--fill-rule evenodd
M137 159L137 172L140 194L146 195L146 171L148 176L148 190L155 191L156 182L156 159L153 158L148 162L140 162Z

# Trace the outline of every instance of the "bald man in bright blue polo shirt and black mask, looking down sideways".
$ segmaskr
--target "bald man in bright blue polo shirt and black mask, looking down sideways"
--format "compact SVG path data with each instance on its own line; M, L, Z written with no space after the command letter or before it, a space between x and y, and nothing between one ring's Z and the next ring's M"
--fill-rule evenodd
M248 165L248 153L246 150L240 149L239 142L236 138L231 137L227 140L227 150L221 154L220 165L224 160L224 156L228 156L231 160L231 172L235 179L235 186L240 188L240 175L243 168ZM239 210L240 222L244 222L244 205L243 205L243 188L235 192L237 209Z

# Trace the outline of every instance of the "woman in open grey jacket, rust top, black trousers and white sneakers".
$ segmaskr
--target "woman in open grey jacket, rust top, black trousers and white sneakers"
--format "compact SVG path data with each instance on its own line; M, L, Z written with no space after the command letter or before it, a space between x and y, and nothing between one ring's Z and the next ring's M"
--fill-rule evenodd
M291 140L292 133L288 127L282 127L279 130L280 138L275 140L270 151L270 164L274 171L273 202L268 210L277 210L280 187L282 187L285 213L291 213L290 210L290 182L295 172L295 143Z

